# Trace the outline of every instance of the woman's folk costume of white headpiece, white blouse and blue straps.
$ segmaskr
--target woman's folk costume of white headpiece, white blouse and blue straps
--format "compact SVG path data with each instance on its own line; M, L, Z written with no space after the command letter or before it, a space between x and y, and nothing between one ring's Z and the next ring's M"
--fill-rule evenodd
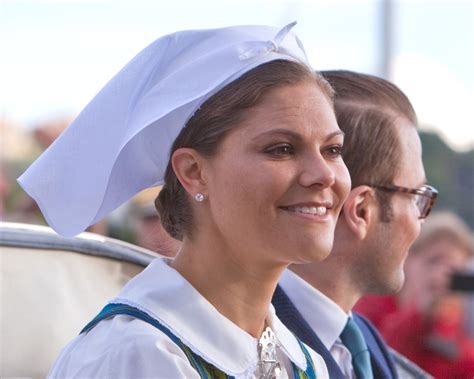
M235 26L170 34L129 62L19 178L49 225L74 236L163 184L171 145L199 107L273 60L310 68L290 32ZM199 199L196 199L199 201ZM327 378L275 316L257 340L163 259L131 280L61 353L52 378Z

